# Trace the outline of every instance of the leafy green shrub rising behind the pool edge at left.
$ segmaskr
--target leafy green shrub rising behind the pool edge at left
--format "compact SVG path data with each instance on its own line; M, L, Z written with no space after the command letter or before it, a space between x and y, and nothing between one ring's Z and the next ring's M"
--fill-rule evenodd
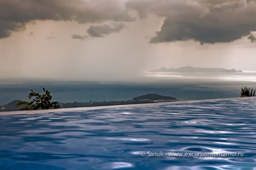
M43 90L45 92L45 94L40 95L39 93L33 92L33 90L31 90L31 93L27 96L28 99L31 99L32 97L35 97L35 99L33 99L31 102L27 102L27 101L19 101L16 104L16 107L20 106L20 105L24 105L25 108L20 109L22 110L39 110L39 109L57 109L60 107L60 105L57 105L57 101L56 102L51 102L52 96L50 95L51 92L49 92L48 90L45 90L45 88L43 87ZM35 102L35 104L34 104Z

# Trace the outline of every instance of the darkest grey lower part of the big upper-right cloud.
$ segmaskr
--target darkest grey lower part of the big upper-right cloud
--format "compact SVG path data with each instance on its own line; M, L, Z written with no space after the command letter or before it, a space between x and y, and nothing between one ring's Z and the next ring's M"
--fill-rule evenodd
M201 25L190 22L173 21L166 19L161 31L156 33L150 42L171 42L193 39L201 43L231 42L250 34L256 29L256 23L237 25Z

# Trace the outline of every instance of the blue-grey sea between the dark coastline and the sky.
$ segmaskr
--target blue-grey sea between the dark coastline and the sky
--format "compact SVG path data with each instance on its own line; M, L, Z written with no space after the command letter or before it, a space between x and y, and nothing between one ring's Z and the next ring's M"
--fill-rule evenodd
M51 92L54 101L128 100L149 93L180 100L239 97L243 86L256 88L256 73L145 73L134 81L0 80L0 105L28 100L30 89Z

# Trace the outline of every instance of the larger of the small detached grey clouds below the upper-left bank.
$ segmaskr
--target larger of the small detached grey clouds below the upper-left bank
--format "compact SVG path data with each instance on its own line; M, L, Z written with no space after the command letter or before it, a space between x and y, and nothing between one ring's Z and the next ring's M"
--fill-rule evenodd
M104 35L109 35L110 33L120 32L124 27L125 25L123 23L113 25L104 24L102 26L90 26L87 32L91 37L104 37Z

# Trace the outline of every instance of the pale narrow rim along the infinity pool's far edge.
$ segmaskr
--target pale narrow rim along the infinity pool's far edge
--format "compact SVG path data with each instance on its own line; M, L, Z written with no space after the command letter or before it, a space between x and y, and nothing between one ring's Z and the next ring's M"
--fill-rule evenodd
M161 102L161 103L143 103L143 104L130 104L130 105L111 105L111 106L96 106L96 107L74 107L74 108L61 108L61 109L47 109L47 110L32 110L32 111L9 111L0 112L0 116L5 115L16 115L16 114L41 114L50 112L73 112L73 111L88 111L96 109L116 109L125 107L143 107L143 106L159 106L159 105L175 105L175 104L186 104L186 103L200 103L206 101L224 101L224 100L244 100L244 99L256 99L256 97L232 97L222 99L204 99L204 100L185 100L185 101L173 101L173 102Z

